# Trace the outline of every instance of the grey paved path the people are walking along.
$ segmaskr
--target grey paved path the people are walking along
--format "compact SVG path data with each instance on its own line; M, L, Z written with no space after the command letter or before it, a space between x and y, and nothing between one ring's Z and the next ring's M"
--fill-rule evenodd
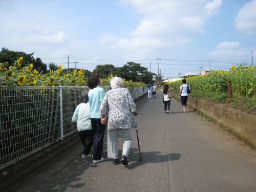
M80 159L78 142L10 191L256 191L255 151L175 99L165 114L157 94L137 104L142 162L135 130L126 167Z

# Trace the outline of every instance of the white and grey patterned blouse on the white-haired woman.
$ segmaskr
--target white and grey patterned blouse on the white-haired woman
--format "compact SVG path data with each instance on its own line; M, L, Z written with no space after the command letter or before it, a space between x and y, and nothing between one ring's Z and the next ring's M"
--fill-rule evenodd
M106 92L100 109L101 115L109 111L108 130L137 127L133 114L136 111L136 104L129 90L125 88L115 88Z

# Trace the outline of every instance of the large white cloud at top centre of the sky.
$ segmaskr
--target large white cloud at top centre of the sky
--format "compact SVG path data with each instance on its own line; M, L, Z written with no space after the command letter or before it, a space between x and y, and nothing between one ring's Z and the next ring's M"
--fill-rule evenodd
M181 47L203 33L206 19L218 13L222 0L126 0L142 15L131 35L112 41L113 49L141 49L150 53L156 48Z

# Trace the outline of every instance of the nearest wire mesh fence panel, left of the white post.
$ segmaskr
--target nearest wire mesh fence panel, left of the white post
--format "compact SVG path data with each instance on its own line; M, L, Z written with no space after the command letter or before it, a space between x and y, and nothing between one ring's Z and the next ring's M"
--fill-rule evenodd
M55 87L0 88L1 169L59 139L58 92Z

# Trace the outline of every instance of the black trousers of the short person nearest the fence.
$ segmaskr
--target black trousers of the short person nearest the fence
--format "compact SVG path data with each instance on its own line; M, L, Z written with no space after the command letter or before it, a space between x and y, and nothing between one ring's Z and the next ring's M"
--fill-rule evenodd
M93 145L93 130L80 131L78 135L83 145L82 154L88 155Z

